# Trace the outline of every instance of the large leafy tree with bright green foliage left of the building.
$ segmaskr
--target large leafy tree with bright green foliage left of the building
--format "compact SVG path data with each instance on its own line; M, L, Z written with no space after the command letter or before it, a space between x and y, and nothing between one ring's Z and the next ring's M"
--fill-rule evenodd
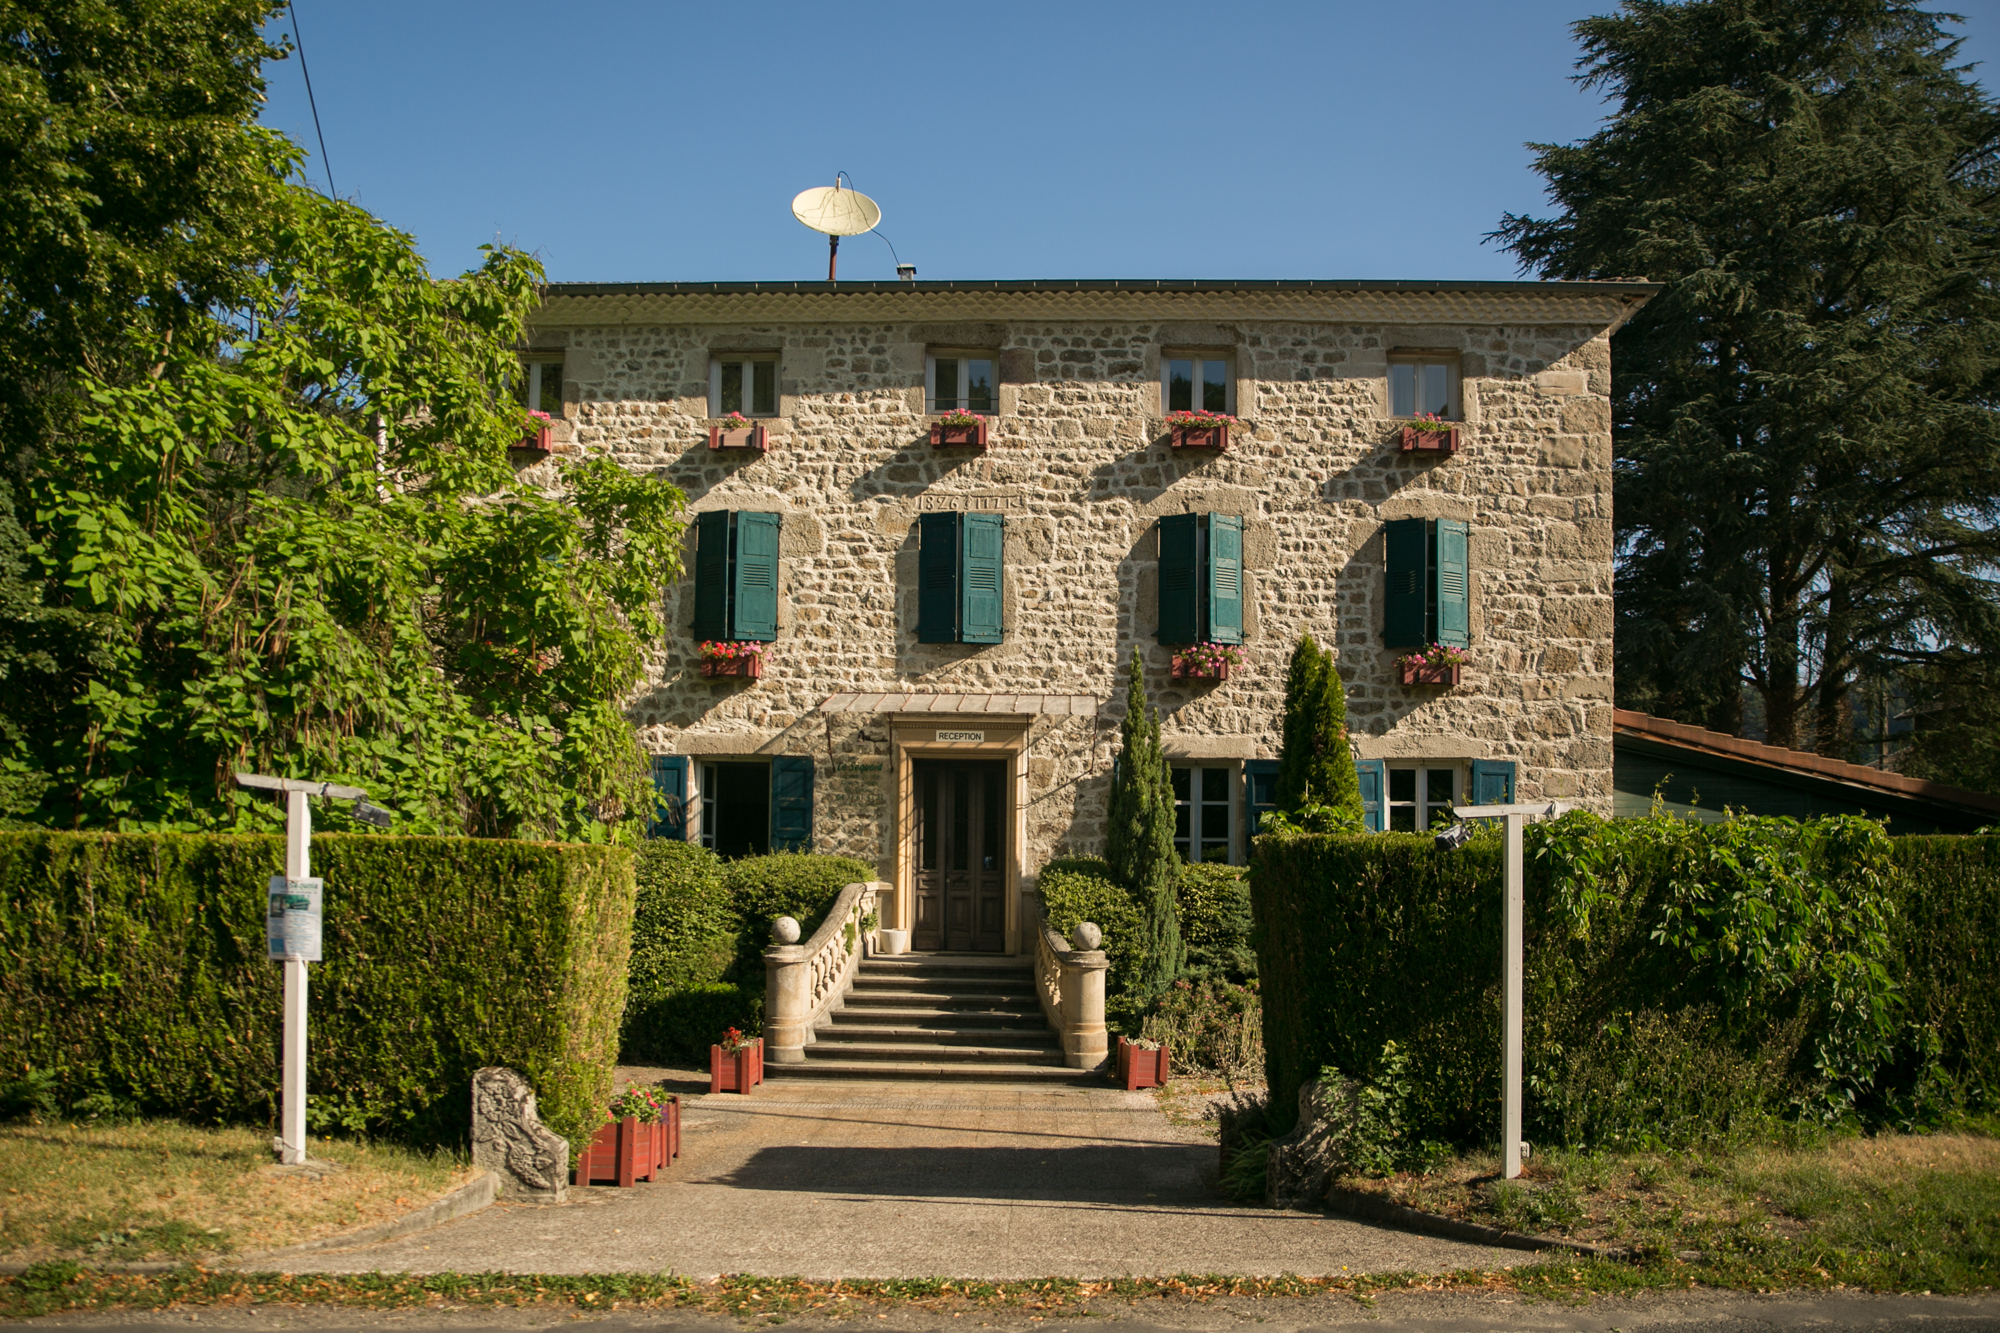
M540 266L434 280L304 188L254 122L276 10L6 4L0 817L260 827L260 769L406 829L628 833L680 492L516 486Z

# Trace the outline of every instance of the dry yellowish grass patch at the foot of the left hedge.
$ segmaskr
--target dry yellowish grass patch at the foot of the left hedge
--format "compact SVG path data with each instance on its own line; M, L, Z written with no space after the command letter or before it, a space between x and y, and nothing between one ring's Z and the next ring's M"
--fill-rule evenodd
M392 1221L472 1175L450 1155L316 1141L346 1167L276 1175L270 1131L0 1125L0 1259L194 1259L260 1251Z

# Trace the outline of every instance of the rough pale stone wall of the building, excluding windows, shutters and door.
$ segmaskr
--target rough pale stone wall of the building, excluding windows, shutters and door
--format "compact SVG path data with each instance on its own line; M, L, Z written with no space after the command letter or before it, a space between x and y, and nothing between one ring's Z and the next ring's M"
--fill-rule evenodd
M1648 294L1612 282L556 284L530 346L564 358L558 456L666 476L692 510L784 516L762 681L702 679L692 596L668 590L682 628L630 701L652 751L812 757L814 845L898 881L900 755L942 715L822 713L830 697L1102 705L1096 717L942 717L1014 761L1010 853L1026 893L1050 855L1100 849L1134 644L1174 757L1276 757L1286 656L1310 630L1338 650L1360 757L1510 759L1520 799L1610 813L1610 332ZM986 452L930 446L934 348L996 352ZM1456 360L1456 456L1398 452L1388 360L1400 350ZM778 356L768 454L708 448L708 366L726 352ZM1184 352L1232 364L1244 424L1222 454L1166 446L1160 362ZM928 508L1006 514L1006 642L916 642L914 522ZM1156 518L1190 510L1244 518L1248 652L1226 683L1192 689L1168 679L1172 650L1154 640ZM1400 650L1382 646L1382 524L1406 516L1470 524L1472 664L1454 689L1402 687Z

